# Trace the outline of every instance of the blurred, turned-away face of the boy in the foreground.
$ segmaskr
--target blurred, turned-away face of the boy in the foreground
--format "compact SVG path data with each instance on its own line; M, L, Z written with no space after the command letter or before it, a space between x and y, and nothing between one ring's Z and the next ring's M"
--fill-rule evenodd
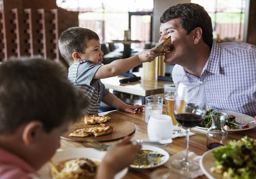
M33 166L35 169L39 169L42 165L48 162L56 150L60 147L59 136L66 132L69 127L69 122L63 123L61 126L54 128L50 133L41 132L37 146L33 156Z

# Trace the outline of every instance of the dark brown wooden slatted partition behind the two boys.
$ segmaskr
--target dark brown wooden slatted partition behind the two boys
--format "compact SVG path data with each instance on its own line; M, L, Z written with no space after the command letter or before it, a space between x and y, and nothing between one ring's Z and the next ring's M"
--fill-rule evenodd
M73 26L78 26L78 12L57 8L55 1L0 0L0 62L40 55L68 67L57 41Z

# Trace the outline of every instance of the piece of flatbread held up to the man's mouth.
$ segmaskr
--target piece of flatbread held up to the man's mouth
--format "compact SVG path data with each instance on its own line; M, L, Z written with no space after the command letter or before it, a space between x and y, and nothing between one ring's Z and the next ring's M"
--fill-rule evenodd
M163 55L168 51L172 51L174 49L172 44L172 37L168 36L166 39L163 39L159 43L156 44L154 48L150 51L153 51L157 54Z

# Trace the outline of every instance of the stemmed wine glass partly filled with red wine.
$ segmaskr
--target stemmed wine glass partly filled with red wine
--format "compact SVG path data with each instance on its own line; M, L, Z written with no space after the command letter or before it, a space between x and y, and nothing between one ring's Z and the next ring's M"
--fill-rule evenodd
M198 170L199 164L188 159L190 127L197 126L205 117L206 95L204 82L180 82L174 101L174 116L178 123L186 128L186 150L182 159L172 161L172 166L179 170Z

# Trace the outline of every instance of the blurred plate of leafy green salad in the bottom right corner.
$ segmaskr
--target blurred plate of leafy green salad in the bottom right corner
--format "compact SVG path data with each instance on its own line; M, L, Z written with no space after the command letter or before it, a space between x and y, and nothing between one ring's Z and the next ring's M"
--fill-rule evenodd
M229 141L226 146L205 152L200 159L200 168L210 179L254 178L256 140L247 136L239 141Z

